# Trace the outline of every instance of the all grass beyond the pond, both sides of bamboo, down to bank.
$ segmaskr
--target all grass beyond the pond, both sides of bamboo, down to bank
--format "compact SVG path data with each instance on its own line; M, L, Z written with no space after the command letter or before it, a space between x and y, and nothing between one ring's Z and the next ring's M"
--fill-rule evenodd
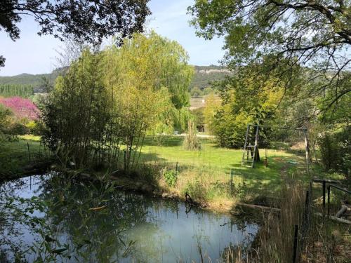
M158 144L151 136L145 138L140 161L157 163L163 167L160 187L164 191L184 196L189 191L195 199L204 201L213 208L227 210L235 201L256 204L271 204L282 187L283 180L300 181L307 185L310 177L305 173L303 152L287 150L267 150L268 167L263 162L255 168L241 166L241 149L225 149L216 146L211 138L200 138L201 150L188 151L183 147L181 136L165 136ZM0 151L0 177L20 173L22 167L44 150L40 137L24 135L15 142L6 142ZM260 149L261 159L265 158L265 149ZM331 177L322 173L321 168L313 166L312 171L319 177ZM166 182L166 170L176 171L176 179L171 185ZM230 173L233 171L233 184ZM336 179L339 175L333 175ZM169 180L168 180L169 181ZM315 185L320 190L320 186ZM319 191L318 190L318 191Z

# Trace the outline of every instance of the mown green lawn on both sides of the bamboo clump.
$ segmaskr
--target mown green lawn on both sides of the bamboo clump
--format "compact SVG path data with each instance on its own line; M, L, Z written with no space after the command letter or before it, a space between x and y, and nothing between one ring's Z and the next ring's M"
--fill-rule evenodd
M39 140L40 137L26 135L16 142L3 144L0 151L0 176L20 173L21 168L30 163L28 144L32 162L36 160L36 156L42 155L44 147ZM140 161L157 161L171 170L176 170L177 166L177 191L184 191L188 184L201 180L201 184L207 185L208 189L217 186L217 196L222 195L223 187L230 182L231 170L234 172L234 184L244 184L245 193L251 193L252 196L257 196L258 193L260 196L275 196L282 181L286 179L310 182L305 170L303 152L268 149L267 168L263 162L257 163L255 168L247 168L241 166L241 149L217 147L213 139L200 140L200 151L187 151L183 148L183 137L165 136L162 143L157 144L156 140L148 136L145 138ZM260 156L264 159L265 149L260 149ZM320 170L317 172L320 173Z

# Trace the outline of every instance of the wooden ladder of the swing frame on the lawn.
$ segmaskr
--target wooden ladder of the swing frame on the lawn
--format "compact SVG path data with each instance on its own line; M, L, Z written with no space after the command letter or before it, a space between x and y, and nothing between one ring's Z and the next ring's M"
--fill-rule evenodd
M255 127L256 127L255 142L253 145L251 144L251 137L250 137L251 127L253 129L255 129ZM258 131L259 131L259 129L260 128L258 125L249 124L247 126L246 136L245 136L245 144L244 144L243 154L242 154L242 159L241 159L241 166L253 168L253 166L255 164L256 152L258 151Z

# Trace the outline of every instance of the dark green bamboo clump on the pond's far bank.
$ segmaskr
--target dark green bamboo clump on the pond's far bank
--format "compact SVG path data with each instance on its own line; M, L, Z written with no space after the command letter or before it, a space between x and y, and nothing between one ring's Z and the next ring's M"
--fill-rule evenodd
M43 109L44 142L77 166L100 163L108 121L108 96L102 86L101 55L84 50L67 73L58 76Z

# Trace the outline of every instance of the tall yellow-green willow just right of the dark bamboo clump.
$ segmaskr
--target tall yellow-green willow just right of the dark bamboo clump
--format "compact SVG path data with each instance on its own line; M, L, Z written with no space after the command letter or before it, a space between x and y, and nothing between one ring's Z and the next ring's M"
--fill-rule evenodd
M121 115L118 125L123 127L127 169L138 162L147 130L159 128L160 123L176 126L178 116L183 117L194 74L187 60L179 43L155 32L134 34L121 48L112 46L105 51L106 86L114 97L112 111ZM161 130L168 129L163 126Z

